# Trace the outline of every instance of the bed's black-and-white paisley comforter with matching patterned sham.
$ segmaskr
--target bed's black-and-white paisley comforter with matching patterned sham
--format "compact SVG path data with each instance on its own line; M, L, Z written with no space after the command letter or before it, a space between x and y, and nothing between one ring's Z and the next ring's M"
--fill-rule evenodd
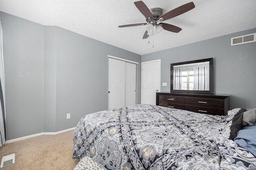
M74 131L73 158L111 170L256 170L256 158L230 140L232 119L139 104L88 114Z

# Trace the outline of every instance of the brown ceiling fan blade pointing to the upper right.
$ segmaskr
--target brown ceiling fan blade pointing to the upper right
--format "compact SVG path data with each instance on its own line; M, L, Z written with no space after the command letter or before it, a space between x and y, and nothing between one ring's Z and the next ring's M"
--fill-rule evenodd
M174 10L171 10L171 11L167 12L166 14L160 16L158 18L158 20L164 21L164 20L168 20L170 18L174 18L180 14L183 14L185 12L188 12L189 10L192 10L193 8L195 8L195 4L193 2L189 2L188 4L179 6L178 8L175 8ZM161 19L161 18L163 18L163 19Z

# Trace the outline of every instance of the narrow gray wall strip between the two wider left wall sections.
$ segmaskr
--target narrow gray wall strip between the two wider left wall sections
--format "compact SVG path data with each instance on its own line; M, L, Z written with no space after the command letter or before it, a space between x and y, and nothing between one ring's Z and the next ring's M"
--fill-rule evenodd
M44 27L44 129L56 131L56 31L55 26Z

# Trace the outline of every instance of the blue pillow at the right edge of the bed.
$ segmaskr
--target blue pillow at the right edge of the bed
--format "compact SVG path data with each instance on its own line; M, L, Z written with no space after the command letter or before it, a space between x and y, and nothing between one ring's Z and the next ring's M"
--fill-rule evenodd
M234 141L256 157L256 125L242 127Z

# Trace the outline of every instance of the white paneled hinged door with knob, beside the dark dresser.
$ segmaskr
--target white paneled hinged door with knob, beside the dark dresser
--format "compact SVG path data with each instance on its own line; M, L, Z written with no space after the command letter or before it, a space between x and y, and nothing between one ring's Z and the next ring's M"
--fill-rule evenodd
M160 60L142 63L141 104L156 105L156 92L160 92Z

